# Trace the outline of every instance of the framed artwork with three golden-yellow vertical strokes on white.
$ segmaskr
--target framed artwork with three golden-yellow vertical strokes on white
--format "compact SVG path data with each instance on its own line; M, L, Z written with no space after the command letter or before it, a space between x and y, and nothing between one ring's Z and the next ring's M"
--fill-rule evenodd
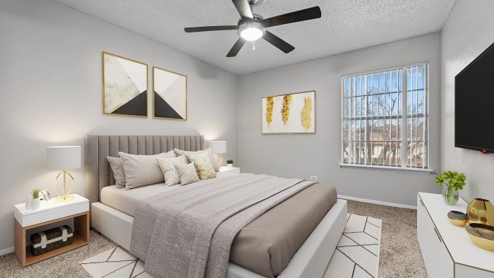
M315 133L315 91L263 97L263 134Z

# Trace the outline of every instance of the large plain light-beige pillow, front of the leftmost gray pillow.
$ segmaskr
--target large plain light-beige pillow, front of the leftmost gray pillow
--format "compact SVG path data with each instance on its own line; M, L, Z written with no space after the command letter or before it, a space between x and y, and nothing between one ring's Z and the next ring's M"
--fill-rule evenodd
M159 155L129 155L119 152L125 171L126 188L138 188L150 184L162 183L163 172L159 169L156 157L175 157L173 151L162 152Z

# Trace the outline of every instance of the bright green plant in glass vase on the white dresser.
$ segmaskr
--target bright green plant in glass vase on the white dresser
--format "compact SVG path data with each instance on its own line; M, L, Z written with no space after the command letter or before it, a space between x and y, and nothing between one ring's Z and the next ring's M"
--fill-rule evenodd
M442 187L442 199L447 205L455 205L458 202L459 193L466 186L466 176L462 173L445 171L435 176L435 183Z

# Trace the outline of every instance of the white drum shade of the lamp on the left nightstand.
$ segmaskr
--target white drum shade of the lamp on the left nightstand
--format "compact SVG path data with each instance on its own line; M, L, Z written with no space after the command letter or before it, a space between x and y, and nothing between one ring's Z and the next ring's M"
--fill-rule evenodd
M80 167L80 146L47 147L47 167L67 170Z

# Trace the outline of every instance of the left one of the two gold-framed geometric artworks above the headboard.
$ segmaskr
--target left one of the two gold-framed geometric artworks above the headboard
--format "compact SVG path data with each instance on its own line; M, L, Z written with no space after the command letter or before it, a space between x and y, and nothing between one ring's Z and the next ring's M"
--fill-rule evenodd
M102 52L103 114L147 117L147 64Z

